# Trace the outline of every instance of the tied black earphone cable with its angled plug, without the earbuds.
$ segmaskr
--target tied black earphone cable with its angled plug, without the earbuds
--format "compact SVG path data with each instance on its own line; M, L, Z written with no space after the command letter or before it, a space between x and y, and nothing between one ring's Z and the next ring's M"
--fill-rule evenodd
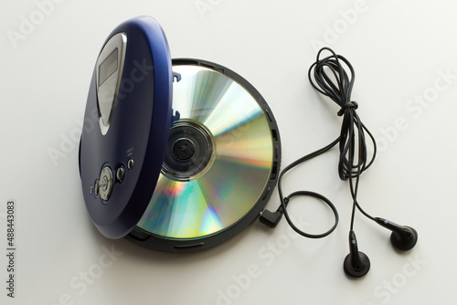
M321 58L321 53L329 51L330 56ZM350 75L347 74L345 67L349 69ZM282 170L278 178L278 193L280 195L281 205L276 212L276 216L271 219L265 219L266 216L260 216L260 221L269 226L276 226L282 214L286 217L287 222L292 226L293 230L304 237L320 238L325 237L333 232L338 222L338 214L333 205L324 196L315 194L313 192L295 192L292 195L283 197L282 195L282 176L289 172L295 166L314 158L322 153L328 152L330 149L338 144L339 148L339 161L338 161L338 174L341 180L349 180L350 192L353 200L350 229L353 230L354 220L356 216L356 209L359 210L364 216L376 221L375 217L370 216L357 202L358 186L360 175L364 173L375 161L377 154L377 145L375 138L368 131L367 127L362 123L356 113L358 104L356 101L351 100L352 88L354 85L355 72L349 61L341 55L336 55L335 52L329 47L323 47L317 53L316 61L308 70L308 78L311 85L318 92L327 96L340 106L337 112L338 116L343 117L341 131L339 137L330 144L323 148L309 153L295 162L289 164ZM373 152L371 155L368 153L367 136L372 142ZM292 219L287 212L287 205L293 195L312 195L323 200L326 205L329 205L335 214L335 225L327 232L319 235L311 235L303 232L297 226L293 225ZM270 223L270 224L268 224Z

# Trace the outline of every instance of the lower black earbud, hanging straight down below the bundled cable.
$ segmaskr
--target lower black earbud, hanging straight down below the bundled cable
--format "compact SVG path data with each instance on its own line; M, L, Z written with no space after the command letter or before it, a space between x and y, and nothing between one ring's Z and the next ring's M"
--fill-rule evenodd
M353 230L349 232L349 250L343 264L345 274L354 278L365 276L370 269L370 260L365 253L358 251L356 233Z

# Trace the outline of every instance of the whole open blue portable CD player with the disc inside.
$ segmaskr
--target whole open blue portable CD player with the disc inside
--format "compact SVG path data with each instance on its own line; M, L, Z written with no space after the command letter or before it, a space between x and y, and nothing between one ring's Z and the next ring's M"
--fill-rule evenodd
M172 68L183 73L175 86ZM172 64L149 16L122 23L101 48L83 126L93 125L81 135L80 178L105 237L170 252L214 246L259 216L276 184L280 136L260 93L214 63Z

